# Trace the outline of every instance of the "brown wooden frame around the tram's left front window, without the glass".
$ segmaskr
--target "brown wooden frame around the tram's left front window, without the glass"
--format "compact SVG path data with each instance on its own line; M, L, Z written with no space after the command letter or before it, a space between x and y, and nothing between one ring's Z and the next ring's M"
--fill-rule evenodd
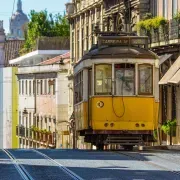
M98 93L97 94L97 92L96 92L96 67L98 66L98 65L109 65L109 66L111 66L111 92L110 93ZM94 79L94 96L112 96L112 94L113 94L113 64L112 63L99 63L99 64L94 64L94 77L93 77L93 79Z

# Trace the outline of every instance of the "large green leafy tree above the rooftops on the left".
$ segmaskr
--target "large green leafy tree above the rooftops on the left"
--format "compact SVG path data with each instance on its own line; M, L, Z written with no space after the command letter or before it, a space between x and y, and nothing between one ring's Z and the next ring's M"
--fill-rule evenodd
M30 52L36 45L39 37L69 36L69 23L65 16L60 14L52 15L47 10L30 12L30 21L24 31L25 44L20 53Z

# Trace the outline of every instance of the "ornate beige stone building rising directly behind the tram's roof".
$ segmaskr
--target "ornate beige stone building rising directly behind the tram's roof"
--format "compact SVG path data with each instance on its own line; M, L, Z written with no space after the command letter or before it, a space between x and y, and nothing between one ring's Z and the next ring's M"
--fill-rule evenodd
M66 4L71 32L71 60L77 62L97 43L95 27L108 32L136 32L147 12L157 14L156 0L73 0Z

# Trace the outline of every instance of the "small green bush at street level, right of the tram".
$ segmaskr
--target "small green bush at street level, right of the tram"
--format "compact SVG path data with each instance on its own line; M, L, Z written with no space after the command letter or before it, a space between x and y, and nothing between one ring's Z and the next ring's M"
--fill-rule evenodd
M170 135L170 131L172 130L172 133L176 131L176 119L174 120L167 120L162 126L161 129L165 134Z

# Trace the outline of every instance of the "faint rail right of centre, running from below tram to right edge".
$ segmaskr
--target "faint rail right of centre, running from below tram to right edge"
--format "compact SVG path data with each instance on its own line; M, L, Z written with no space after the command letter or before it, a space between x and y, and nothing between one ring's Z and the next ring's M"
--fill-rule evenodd
M145 164L148 164L148 165L152 165L152 166L161 168L161 169L163 169L163 170L166 170L166 171L171 172L171 173L176 174L176 175L180 175L180 172L178 172L178 171L174 171L174 170L172 170L172 169L166 168L166 167L161 166L161 165L159 165L159 164L156 164L156 163L153 163L153 162L150 162L150 161L143 160L142 158L134 157L134 156L132 156L132 155L126 153L126 152L120 152L120 151L119 151L119 152L115 152L115 153L122 154L122 155L125 155L125 156L127 156L127 157L131 157L131 158L133 158L133 159L135 159L135 160L142 161L142 162L144 162ZM139 152L136 152L136 153L138 153L139 155L141 155ZM162 159L163 159L163 158L162 158Z

